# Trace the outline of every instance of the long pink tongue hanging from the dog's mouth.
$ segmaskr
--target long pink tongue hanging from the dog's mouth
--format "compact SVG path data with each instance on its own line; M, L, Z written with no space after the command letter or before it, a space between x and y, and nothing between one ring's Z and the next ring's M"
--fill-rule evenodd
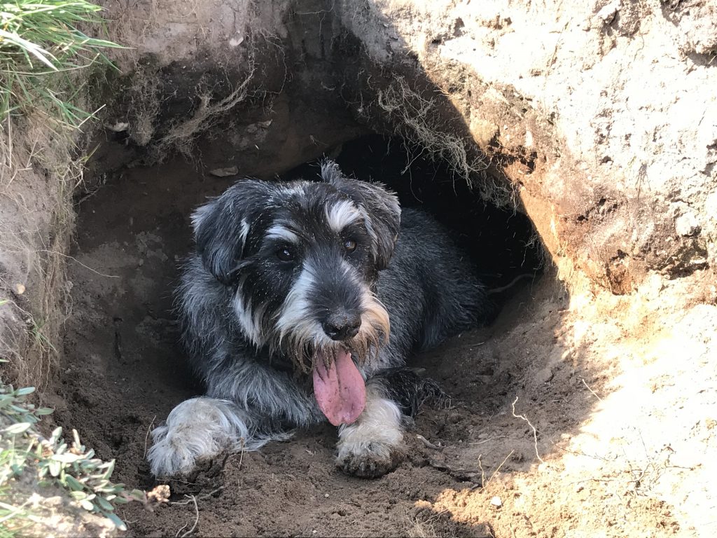
M318 407L334 426L352 424L366 406L364 378L346 351L339 351L328 369L323 359L319 353L313 374Z

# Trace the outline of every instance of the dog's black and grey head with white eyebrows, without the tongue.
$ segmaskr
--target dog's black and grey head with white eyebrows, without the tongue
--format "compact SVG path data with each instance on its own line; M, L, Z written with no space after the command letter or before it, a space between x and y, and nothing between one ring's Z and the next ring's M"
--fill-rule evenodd
M364 360L388 337L372 287L400 221L383 187L348 179L331 161L321 179L239 181L192 219L204 267L232 288L244 335L304 372L347 351Z

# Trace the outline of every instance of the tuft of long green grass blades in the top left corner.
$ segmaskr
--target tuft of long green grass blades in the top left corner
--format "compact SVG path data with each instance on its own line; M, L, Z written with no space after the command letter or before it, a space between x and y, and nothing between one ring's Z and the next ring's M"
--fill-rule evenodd
M0 3L0 121L30 108L70 128L92 117L75 104L79 89L72 75L112 65L102 51L119 45L80 30L101 27L101 10L85 0Z

